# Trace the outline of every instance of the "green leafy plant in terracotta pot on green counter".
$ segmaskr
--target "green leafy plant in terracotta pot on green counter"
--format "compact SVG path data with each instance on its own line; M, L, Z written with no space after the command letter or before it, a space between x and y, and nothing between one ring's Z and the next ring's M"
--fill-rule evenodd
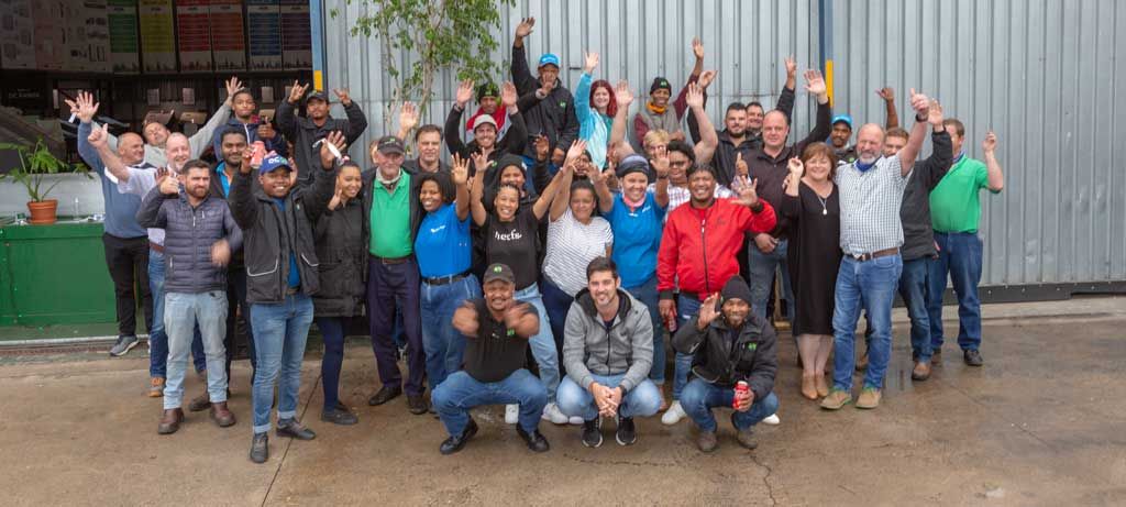
M59 185L61 180L50 184L46 188L43 188L43 179L46 175L54 175L59 171L68 168L72 168L75 172L81 172L90 178L89 170L86 166L77 164L71 166L63 160L60 160L51 150L47 149L46 143L39 137L35 142L35 145L27 144L12 144L12 143L0 143L0 151L10 150L15 151L19 157L19 166L10 168L7 172L0 174L0 180L11 178L19 184L24 185L27 189L27 197L32 201L27 203L28 214L32 216L29 222L33 224L51 224L55 223L57 217L59 201L48 199L47 196L51 190Z

